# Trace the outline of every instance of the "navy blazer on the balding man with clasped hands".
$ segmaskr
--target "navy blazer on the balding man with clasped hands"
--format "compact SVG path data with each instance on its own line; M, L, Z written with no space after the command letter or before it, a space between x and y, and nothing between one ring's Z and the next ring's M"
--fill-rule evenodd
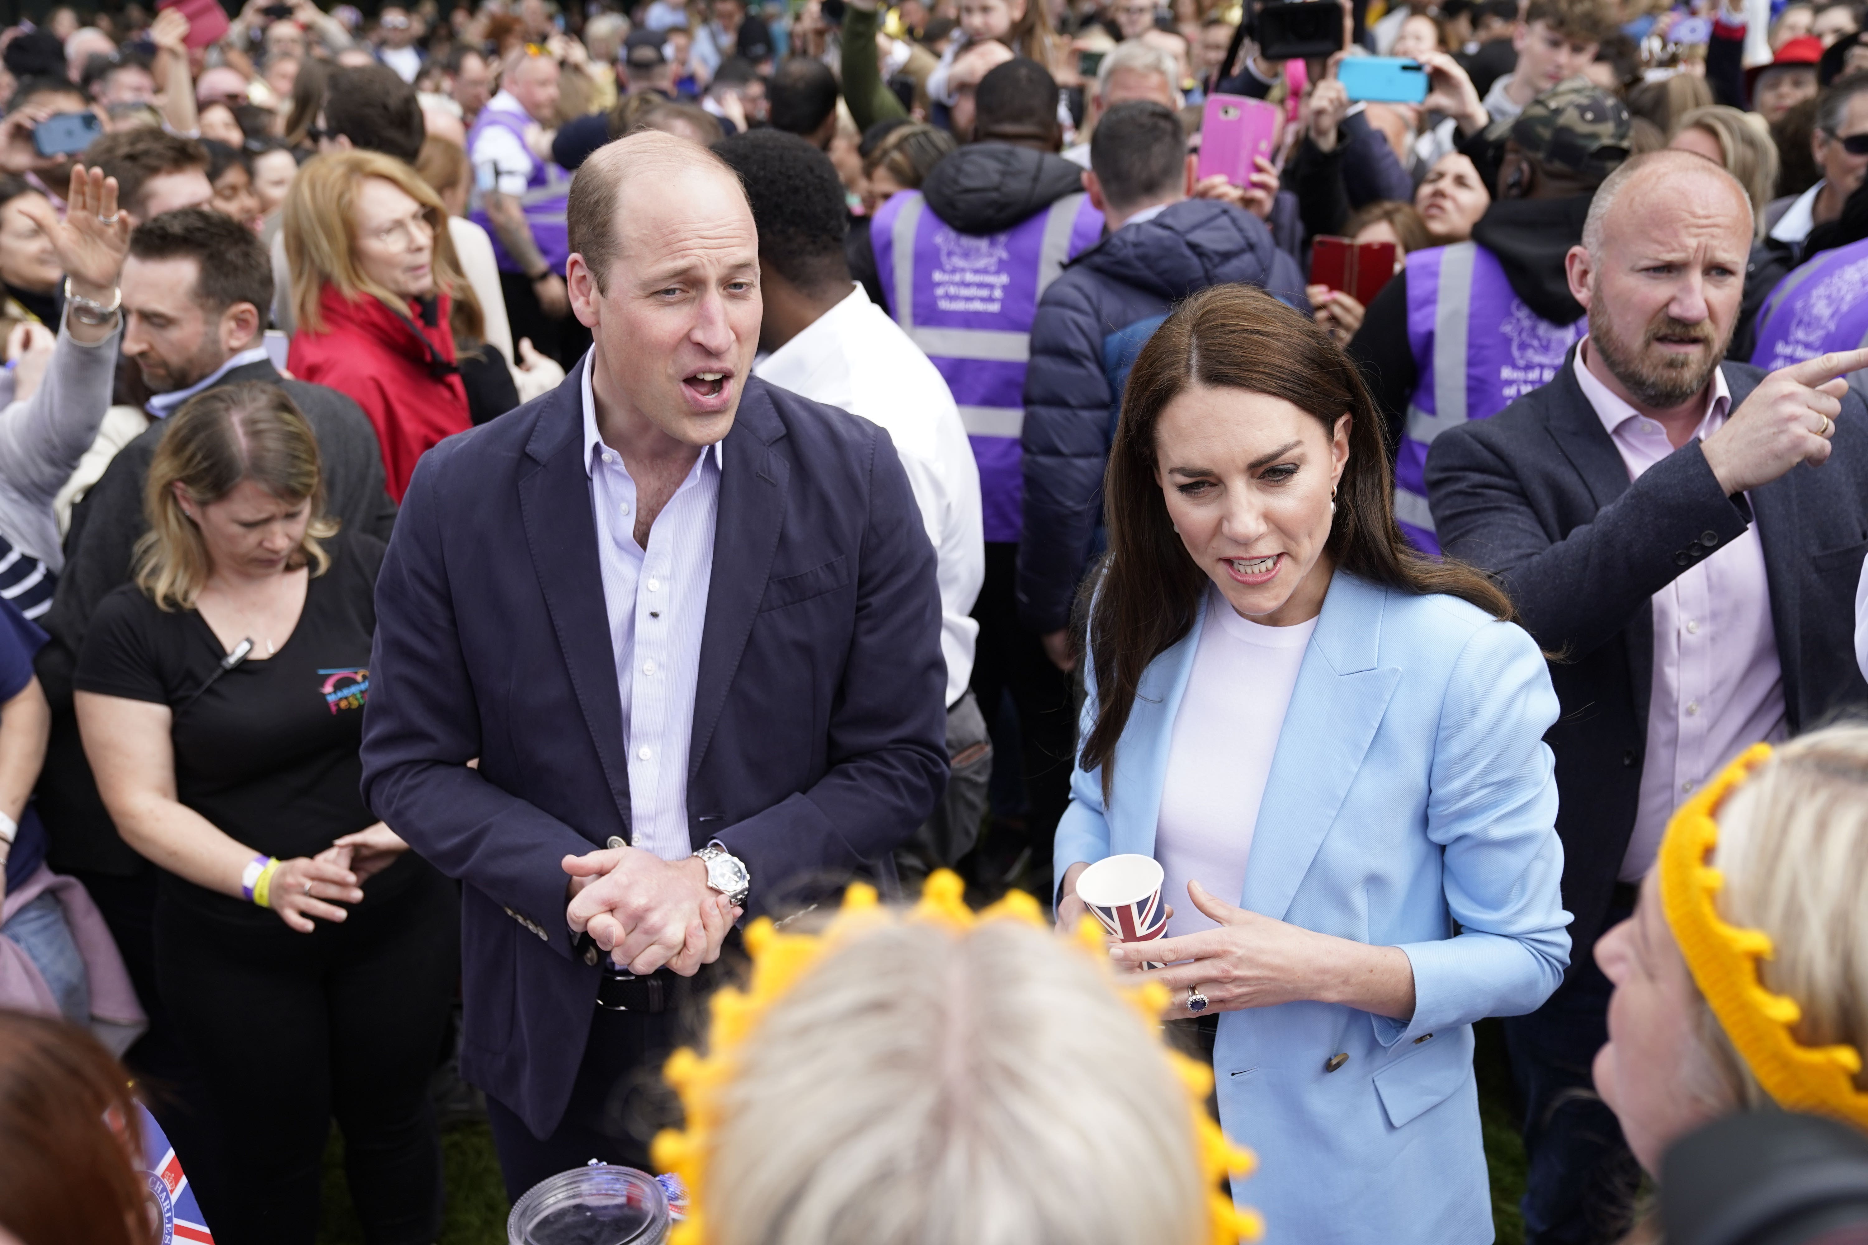
M467 883L461 1071L540 1137L570 1099L600 974L573 958L560 859L630 836L581 375L417 465L377 577L362 741L370 808ZM895 446L747 381L700 640L695 847L745 860L749 913L893 877L889 853L945 786L945 730L934 549Z

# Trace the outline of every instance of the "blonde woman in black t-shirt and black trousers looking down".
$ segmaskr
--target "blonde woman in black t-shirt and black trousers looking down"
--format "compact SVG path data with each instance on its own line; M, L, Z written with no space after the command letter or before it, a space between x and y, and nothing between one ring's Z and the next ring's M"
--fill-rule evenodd
M366 1239L433 1241L458 900L359 795L383 545L325 517L275 385L168 416L144 508L77 713L123 842L163 870L155 976L226 1139L215 1239L310 1245L336 1116Z

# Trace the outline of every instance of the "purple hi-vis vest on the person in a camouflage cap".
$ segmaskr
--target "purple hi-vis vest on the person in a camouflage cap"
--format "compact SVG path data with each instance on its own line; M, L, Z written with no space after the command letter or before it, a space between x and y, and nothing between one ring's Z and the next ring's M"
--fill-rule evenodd
M1524 306L1498 256L1476 243L1407 258L1407 340L1420 383L1395 452L1395 519L1418 549L1440 553L1425 483L1433 439L1549 385L1586 330L1586 319L1552 325Z

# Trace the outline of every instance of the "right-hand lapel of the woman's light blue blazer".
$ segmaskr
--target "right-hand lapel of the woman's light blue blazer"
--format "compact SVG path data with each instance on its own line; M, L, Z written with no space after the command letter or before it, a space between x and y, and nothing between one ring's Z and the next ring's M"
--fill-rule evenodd
M1401 670L1377 668L1386 590L1337 571L1298 666L1238 900L1285 918L1362 769Z

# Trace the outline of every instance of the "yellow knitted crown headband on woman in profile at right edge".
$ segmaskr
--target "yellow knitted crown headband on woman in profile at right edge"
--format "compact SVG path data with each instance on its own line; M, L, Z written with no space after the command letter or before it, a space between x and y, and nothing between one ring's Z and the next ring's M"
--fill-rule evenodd
M1719 846L1713 818L1769 758L1771 745L1752 747L1674 814L1661 840L1661 909L1726 1038L1776 1105L1868 1129L1868 1094L1855 1088L1861 1053L1851 1045L1799 1043L1791 1030L1803 1008L1758 980L1758 961L1773 954L1771 935L1726 924L1713 905L1724 887L1724 875L1705 862Z

